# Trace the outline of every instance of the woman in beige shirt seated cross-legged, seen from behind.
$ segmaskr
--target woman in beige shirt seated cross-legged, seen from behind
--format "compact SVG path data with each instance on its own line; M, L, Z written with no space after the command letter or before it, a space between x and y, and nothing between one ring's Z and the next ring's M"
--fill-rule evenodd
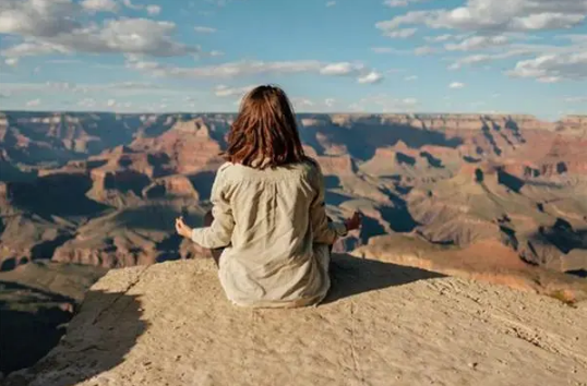
M228 299L243 306L294 307L321 302L330 289L330 250L358 229L358 213L331 222L324 181L304 155L290 102L275 86L242 100L214 181L212 216L179 234L213 250Z

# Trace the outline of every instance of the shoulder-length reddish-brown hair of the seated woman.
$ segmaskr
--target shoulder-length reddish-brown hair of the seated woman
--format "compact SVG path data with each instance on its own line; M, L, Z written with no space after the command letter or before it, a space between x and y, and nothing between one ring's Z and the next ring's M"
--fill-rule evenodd
M264 85L247 94L228 133L224 157L257 169L308 159L294 109L281 88Z

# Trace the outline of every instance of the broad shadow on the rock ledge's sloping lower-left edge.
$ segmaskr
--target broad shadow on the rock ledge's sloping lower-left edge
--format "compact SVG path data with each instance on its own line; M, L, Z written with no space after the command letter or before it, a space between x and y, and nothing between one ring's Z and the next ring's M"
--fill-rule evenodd
M116 367L145 331L141 302L125 292L89 291L59 346L29 369L10 374L5 386L71 386ZM101 384L101 383L100 383Z

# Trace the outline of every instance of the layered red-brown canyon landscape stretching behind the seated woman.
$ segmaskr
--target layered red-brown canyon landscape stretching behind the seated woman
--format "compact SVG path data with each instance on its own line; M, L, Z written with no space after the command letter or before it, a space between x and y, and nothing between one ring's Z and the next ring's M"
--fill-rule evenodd
M207 257L175 234L173 218L202 224L233 119L0 113L0 311L26 321L2 324L2 335L38 329L39 321L50 331L41 350L31 339L26 358L3 360L1 372L45 355L108 269ZM364 215L337 253L567 304L587 299L587 117L340 113L298 121L325 174L328 214Z

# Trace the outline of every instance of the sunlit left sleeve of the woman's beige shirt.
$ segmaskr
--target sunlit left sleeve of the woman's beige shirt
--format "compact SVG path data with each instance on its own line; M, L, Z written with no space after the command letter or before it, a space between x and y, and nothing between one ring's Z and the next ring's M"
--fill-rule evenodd
M232 217L230 202L226 197L225 188L226 184L220 170L216 174L211 193L214 220L209 227L194 228L192 230L192 241L203 248L217 249L230 244L232 230L235 229L235 218Z

